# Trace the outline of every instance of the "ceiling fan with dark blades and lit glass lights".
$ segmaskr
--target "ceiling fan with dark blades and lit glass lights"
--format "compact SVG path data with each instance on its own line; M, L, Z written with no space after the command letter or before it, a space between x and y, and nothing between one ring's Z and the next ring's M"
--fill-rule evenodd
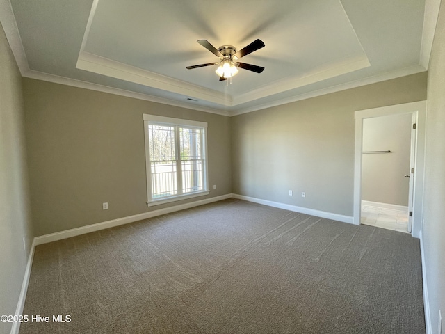
M215 54L220 61L215 63L207 63L200 65L187 66L186 69L191 70L197 67L211 66L211 65L219 65L218 69L215 71L216 74L220 77L220 81L227 80L229 78L232 79L234 75L238 73L238 67L243 68L244 70L249 70L256 73L261 73L264 71L264 67L251 65L246 63L240 63L238 61L239 58L243 56L247 56L251 54L253 51L257 51L264 47L264 42L261 40L254 40L250 45L244 47L243 49L236 52L236 48L232 45L223 45L221 47L213 47L207 40L198 40L198 43L211 51L211 53Z

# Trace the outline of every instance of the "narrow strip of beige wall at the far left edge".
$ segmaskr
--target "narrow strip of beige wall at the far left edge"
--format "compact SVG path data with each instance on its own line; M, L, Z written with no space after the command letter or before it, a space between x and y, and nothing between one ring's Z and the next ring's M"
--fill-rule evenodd
M14 315L33 233L29 218L22 79L1 25L0 73L0 314ZM0 333L9 333L11 327L10 323L0 322Z

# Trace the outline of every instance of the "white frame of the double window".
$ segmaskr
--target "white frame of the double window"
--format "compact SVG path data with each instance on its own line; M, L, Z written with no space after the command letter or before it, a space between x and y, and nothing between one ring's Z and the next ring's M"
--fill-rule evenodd
M160 205L168 202L175 202L177 200L185 200L186 198L194 198L197 196L205 196L209 194L209 176L207 168L207 122L197 122L195 120L183 120L181 118L171 118L164 116L155 116L144 113L144 134L145 134L145 171L147 176L147 206ZM203 189L200 191L193 191L186 194L178 194L174 196L168 196L164 198L152 197L152 161L150 160L150 145L149 145L149 124L166 125L166 126L184 126L195 127L202 129L202 154L204 156L203 164ZM175 145L179 148L179 136L175 135ZM179 154L179 150L175 150L176 154ZM179 159L179 161L181 161ZM181 173L181 170L177 170L177 173Z

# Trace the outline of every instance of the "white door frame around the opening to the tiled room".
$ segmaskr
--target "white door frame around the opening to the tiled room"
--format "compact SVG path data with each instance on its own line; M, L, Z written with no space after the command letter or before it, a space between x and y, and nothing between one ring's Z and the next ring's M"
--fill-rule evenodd
M423 218L423 171L425 168L426 101L382 106L355 111L354 224L360 225L362 212L362 145L363 120L380 116L411 113L416 117L416 154L414 157L414 198L412 236L419 238Z

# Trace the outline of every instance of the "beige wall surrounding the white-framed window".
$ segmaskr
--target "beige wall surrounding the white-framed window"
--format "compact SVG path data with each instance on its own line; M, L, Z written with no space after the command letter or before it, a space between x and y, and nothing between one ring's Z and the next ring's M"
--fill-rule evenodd
M226 116L33 79L24 97L36 235L232 192ZM209 196L147 207L143 113L208 123Z

